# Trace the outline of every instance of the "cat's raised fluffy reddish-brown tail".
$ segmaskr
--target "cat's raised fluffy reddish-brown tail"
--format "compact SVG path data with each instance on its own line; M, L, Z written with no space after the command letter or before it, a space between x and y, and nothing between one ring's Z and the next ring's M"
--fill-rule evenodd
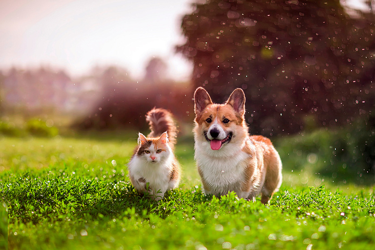
M146 121L151 129L149 137L159 137L167 131L169 145L173 147L176 144L178 130L172 113L164 108L154 107L147 112Z

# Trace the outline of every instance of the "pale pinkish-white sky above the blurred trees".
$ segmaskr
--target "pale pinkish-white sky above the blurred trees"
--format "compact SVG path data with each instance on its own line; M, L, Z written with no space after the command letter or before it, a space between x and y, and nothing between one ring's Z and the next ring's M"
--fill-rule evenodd
M52 66L74 75L95 65L125 67L134 78L161 57L168 78L187 80L192 64L175 45L192 0L0 0L0 69ZM363 7L363 0L343 0Z

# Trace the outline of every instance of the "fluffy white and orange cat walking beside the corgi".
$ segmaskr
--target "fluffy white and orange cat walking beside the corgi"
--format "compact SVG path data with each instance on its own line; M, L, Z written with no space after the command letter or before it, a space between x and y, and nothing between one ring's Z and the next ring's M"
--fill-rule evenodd
M128 163L129 177L138 192L147 192L158 201L180 182L180 166L173 153L177 127L172 114L163 108L148 111L146 121L151 132L147 137L139 133Z

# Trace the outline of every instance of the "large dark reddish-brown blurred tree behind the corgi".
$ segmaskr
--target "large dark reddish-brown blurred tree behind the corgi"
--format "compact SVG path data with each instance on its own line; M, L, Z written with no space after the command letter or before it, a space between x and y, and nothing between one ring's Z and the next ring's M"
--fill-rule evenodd
M352 123L374 109L374 13L339 0L207 0L183 17L193 85L247 96L253 133Z

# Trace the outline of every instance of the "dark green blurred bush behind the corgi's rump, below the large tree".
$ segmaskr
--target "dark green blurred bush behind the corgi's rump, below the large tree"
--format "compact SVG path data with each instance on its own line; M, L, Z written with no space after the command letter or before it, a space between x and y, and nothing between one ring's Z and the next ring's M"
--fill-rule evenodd
M321 128L277 140L284 169L310 170L363 184L375 176L375 117L344 128Z

